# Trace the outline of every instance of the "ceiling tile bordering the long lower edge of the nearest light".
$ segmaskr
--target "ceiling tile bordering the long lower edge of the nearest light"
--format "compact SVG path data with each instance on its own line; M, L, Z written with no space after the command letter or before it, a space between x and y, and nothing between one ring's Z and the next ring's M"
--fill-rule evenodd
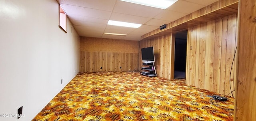
M141 16L141 17L147 17L147 18L153 18L161 11L163 10L160 8L153 8L149 6L143 6L143 5L124 2L120 0L117 0L113 10L113 12L116 12L116 13Z

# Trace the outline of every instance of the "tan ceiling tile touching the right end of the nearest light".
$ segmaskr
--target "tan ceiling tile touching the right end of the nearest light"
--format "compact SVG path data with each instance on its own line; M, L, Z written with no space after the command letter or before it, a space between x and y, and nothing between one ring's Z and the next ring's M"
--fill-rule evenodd
M192 3L192 2L187 2L184 0L178 0L175 4L167 8L167 10L172 10L176 12L181 12L181 13L186 13L190 14L196 10L199 10L203 8L203 5Z

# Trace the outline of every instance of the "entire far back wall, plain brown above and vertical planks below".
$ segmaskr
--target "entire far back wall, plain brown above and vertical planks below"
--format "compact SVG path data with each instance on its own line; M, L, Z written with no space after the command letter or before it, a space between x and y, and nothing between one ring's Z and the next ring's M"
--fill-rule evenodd
M138 71L138 41L80 37L80 72Z

